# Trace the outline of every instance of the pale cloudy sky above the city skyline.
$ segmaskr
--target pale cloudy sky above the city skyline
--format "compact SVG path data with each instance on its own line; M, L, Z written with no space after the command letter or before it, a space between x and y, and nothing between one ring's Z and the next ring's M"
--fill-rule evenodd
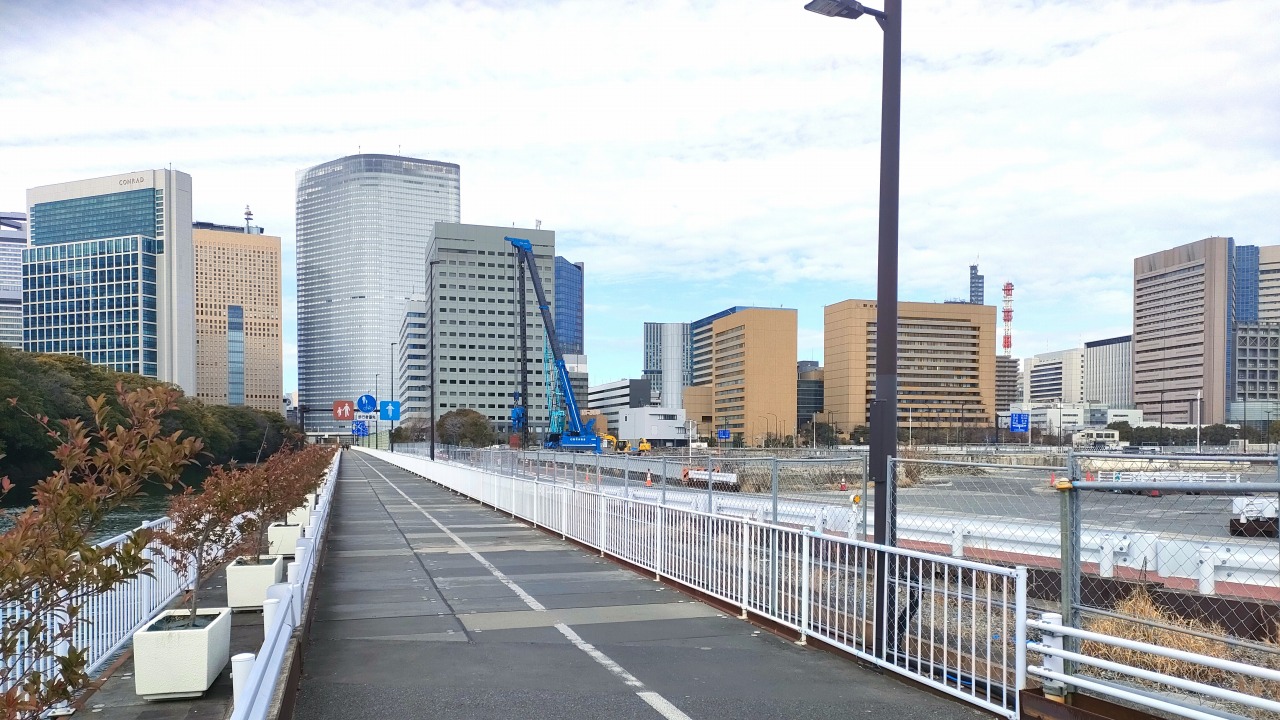
M978 263L1024 357L1132 332L1137 256L1280 243L1280 3L904 4L901 300ZM876 297L883 45L803 5L0 3L0 210L170 165L197 220L250 205L292 391L297 172L457 163L463 223L585 263L593 384L640 375L643 323L735 305L796 309L822 360L823 307Z

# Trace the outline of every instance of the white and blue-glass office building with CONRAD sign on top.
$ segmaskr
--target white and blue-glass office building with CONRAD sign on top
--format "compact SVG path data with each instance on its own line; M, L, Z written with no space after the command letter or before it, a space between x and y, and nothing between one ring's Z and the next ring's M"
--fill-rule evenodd
M140 170L27 191L23 350L196 395L191 176Z

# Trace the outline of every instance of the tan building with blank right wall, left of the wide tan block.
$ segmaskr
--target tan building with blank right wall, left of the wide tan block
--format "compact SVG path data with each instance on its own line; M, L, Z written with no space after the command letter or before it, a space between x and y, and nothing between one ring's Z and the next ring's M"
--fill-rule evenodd
M760 445L795 430L797 327L783 307L732 307L690 323L695 386L685 389L685 415L701 437L727 429L735 445Z

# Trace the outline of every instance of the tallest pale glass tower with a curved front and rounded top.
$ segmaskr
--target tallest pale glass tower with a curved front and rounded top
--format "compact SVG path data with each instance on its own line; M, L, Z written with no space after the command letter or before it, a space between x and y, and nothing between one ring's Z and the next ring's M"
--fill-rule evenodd
M460 219L458 165L351 155L298 174L298 395L308 430L337 400L390 389L406 305L425 295L431 227Z

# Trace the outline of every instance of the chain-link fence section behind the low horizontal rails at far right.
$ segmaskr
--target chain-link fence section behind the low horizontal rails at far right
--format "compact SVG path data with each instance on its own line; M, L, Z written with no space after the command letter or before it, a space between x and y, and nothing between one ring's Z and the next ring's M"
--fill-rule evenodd
M1083 454L1064 492L1064 621L1251 667L1280 670L1280 483L1275 457ZM1280 683L1204 661L1114 644L1084 655L1228 691L1184 693L1207 710L1257 715L1230 692L1280 700ZM1116 674L1082 665L1082 675ZM1160 683L1126 684L1156 691Z

